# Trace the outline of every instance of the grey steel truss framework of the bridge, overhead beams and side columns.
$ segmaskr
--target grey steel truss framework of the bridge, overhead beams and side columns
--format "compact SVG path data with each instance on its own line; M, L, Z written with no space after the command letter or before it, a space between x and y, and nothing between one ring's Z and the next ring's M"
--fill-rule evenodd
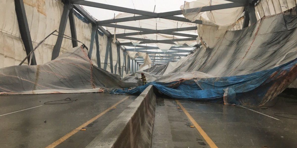
M189 31L189 30L197 30L196 26L193 27L185 27L185 28L170 28L170 29L163 29L163 30L157 30L157 29L147 29L147 28L141 28L141 27L132 27L132 26L125 26L125 25L117 25L118 22L129 22L129 21L136 21L136 20L146 20L146 19L152 19L152 18L160 18L160 19L167 19L167 20L175 20L180 22L187 22L187 23L193 23L193 24L203 24L201 20L195 20L190 21L187 20L184 17L178 17L176 15L182 15L183 12L205 12L205 11L211 11L211 10L219 10L219 9L228 9L228 8L235 8L235 7L244 7L244 25L243 27L247 27L250 24L253 24L257 21L255 16L255 9L254 4L256 0L226 0L230 1L230 3L227 4L218 4L218 5L212 5L212 6L206 6L203 8L193 8L193 9L184 9L184 10L176 10L176 11L170 11L170 12L162 12L162 13L155 13L155 12L148 12L143 10L137 10L137 9L130 9L125 7L119 7L119 6L113 6L108 4L101 4L97 2L92 1L85 1L85 0L62 0L64 3L64 10L61 16L60 26L59 26L59 37L56 41L56 44L53 48L52 53L52 59L55 59L59 56L59 52L61 49L61 44L63 41L63 34L66 28L67 20L69 19L70 22L70 30L71 30L71 36L74 39L77 39L76 29L75 29L75 21L74 21L74 13L78 12L80 15L85 17L89 22L92 24L92 31L91 31L91 44L87 45L89 46L89 51L96 50L97 55L90 54L90 57L97 57L97 64L99 67L101 67L101 64L103 64L102 68L105 70L107 69L108 65L110 65L110 70L112 73L117 74L123 74L123 71L126 71L126 73L135 72L135 70L138 68L139 64L143 62L143 59L135 59L130 61L130 57L127 54L127 51L133 51L133 52L145 52L151 55L151 60L157 60L157 63L168 63L169 61L175 61L177 59L180 59L181 57L185 57L195 51L200 44L195 46L188 46L187 44L184 44L183 46L175 47L172 46L167 52L156 52L152 51L151 49L159 49L159 47L152 47L152 46L146 46L145 44L151 44L151 43L164 43L164 44L172 44L176 45L175 42L177 41L195 41L196 38L198 38L198 35L193 34L187 34L182 33L183 31ZM86 12L83 6L89 6L89 7L95 7L100 9L108 9L113 11L119 11L119 12L127 12L130 14L135 14L134 17L125 17L125 18L117 18L117 19L110 19L110 20L101 20L97 21L95 20L88 12ZM24 46L26 49L27 54L33 49L30 31L28 27L28 22L26 19L26 12L23 6L23 0L15 0L15 8L17 12L17 18L18 23L20 26L20 34L22 37L22 40L24 42ZM111 50L111 42L113 41L114 35L108 32L105 27L111 27L111 28L121 28L126 30L133 30L138 32L132 32L132 33L118 33L116 34L116 38L119 39L127 39L127 40L135 40L140 41L140 45L133 45L131 42L124 42L120 43L119 41L116 41L117 44L117 53L118 53L118 61L123 61L124 65L121 65L120 62L116 64L116 66L113 65L113 58L111 52L115 52ZM105 52L105 59L100 59L99 55L99 40L98 40L98 32L102 32L105 36L108 37L108 43L106 47ZM127 31L129 32L129 31ZM136 35L145 35L145 34L165 34L165 35L173 35L177 36L178 38L173 39L166 39L166 40L150 40L150 39L144 39L144 38L136 38L132 36ZM96 44L96 48L94 48L94 40ZM72 46L78 46L77 41L72 41ZM128 48L127 48L128 47ZM131 48L129 48L131 47ZM186 50L187 48L192 48L191 50ZM124 59L120 58L120 52L119 50L123 50L124 53ZM184 53L184 54L182 54ZM156 55L158 54L158 55ZM136 54L138 55L138 54ZM154 56L154 58L152 58ZM128 60L126 60L126 57ZM108 60L108 58L110 60ZM157 59L156 59L157 58ZM99 59L99 60L98 60ZM162 61L161 61L162 60ZM33 57L31 64L36 65L36 60Z

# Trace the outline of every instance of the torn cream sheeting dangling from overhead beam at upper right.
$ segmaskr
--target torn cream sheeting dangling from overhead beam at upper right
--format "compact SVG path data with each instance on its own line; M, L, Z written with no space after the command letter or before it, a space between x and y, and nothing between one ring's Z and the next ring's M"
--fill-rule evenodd
M180 8L183 10L185 18L195 21L202 20L203 24L197 24L197 31L200 38L207 43L210 48L216 46L227 30L233 28L234 24L242 15L244 7L220 9L206 12L188 12L186 9L202 8L205 6L231 3L224 0L197 0L185 2ZM201 9L200 9L201 10Z

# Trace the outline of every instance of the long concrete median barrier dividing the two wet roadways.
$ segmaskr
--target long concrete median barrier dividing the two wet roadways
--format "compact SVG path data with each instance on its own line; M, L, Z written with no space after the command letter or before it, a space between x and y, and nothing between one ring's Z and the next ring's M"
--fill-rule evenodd
M150 148L155 104L150 85L86 148Z

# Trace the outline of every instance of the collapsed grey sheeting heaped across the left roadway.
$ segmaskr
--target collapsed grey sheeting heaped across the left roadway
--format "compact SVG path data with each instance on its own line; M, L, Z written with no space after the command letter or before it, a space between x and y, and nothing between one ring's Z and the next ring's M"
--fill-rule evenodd
M132 77L122 80L94 66L81 46L68 51L43 65L1 68L0 94L103 92L139 85Z

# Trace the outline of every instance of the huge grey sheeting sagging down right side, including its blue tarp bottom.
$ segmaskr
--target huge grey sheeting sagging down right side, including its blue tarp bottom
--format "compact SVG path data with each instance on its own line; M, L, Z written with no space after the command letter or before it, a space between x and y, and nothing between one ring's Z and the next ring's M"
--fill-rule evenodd
M266 16L243 30L227 31L213 49L197 49L172 65L176 68L169 75L148 74L154 82L112 93L139 94L152 84L176 99L264 105L297 78L297 15L289 14Z

